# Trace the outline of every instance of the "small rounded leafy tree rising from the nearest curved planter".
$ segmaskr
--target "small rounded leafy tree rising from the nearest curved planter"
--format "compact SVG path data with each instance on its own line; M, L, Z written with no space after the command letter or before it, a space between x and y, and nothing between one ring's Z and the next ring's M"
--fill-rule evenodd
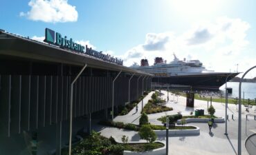
M149 125L143 125L143 127L140 127L138 134L140 135L140 138L145 139L149 143L156 141L156 133Z

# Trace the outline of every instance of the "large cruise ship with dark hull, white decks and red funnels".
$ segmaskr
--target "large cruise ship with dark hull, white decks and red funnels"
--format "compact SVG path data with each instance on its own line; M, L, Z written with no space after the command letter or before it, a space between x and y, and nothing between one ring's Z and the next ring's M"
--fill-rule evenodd
M147 59L141 59L140 65L134 63L131 68L154 74L152 85L176 85L190 87L194 90L219 90L219 87L234 78L239 72L214 72L207 70L199 60L183 61L174 54L170 63L161 57L156 57L154 65L149 66Z

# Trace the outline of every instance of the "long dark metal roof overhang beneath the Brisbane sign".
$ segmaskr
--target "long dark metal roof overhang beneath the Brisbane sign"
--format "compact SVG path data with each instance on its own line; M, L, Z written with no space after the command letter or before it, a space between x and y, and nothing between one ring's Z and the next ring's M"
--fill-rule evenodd
M133 70L122 65L117 65L115 63L96 59L93 56L58 48L54 45L40 43L38 41L33 41L24 37L18 37L16 35L8 34L6 32L0 32L0 34L1 55L18 56L26 59L48 61L53 63L64 63L78 66L83 66L86 63L91 68L114 71L122 70L122 72L128 72L132 74L153 76L152 74Z

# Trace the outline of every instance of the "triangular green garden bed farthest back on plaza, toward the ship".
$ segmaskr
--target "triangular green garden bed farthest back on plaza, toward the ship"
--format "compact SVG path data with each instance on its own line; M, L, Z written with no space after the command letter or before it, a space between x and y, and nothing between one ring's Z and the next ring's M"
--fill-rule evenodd
M143 107L142 113L145 112L146 114L154 114L158 112L167 112L173 110L172 107L166 107L165 105L161 105L161 103L165 103L165 100L161 100L158 96L158 92L152 94L152 99L150 99L145 107Z

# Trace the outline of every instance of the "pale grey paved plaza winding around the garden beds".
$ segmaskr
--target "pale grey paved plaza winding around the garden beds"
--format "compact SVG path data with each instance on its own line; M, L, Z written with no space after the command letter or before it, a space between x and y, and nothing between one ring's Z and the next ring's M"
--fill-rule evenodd
M163 96L162 99L167 100L167 92L162 91ZM151 99L153 92L149 93L143 103L147 103L149 99ZM161 112L157 114L149 114L149 122L156 125L161 125L160 121L156 119L170 114L177 114L177 112L181 112L183 115L190 115L190 112L194 112L196 109L204 109L205 114L207 114L207 101L194 101L194 108L186 107L186 99L183 96L174 96L174 94L169 93L170 101L166 104L168 107L173 107L174 110L170 112ZM224 103L214 103L212 102L216 112L215 116L225 116L225 104ZM209 102L210 106L210 102ZM125 116L116 116L113 121L122 121L124 123L134 123L138 124L138 120L140 118L140 111L142 108L142 103L138 104L138 112L131 110L129 114ZM234 115L234 119L232 120L231 116ZM248 121L246 122L246 114L248 115ZM250 112L246 112L244 105L242 105L242 130L241 130L241 144L242 154L248 154L244 147L244 143L246 137L250 134L256 132L256 121L254 120L255 115L255 107L250 109ZM207 123L188 123L187 125L194 125L200 127L200 134L196 136L169 136L169 154L175 155L186 155L186 154L237 154L237 132L238 132L238 112L236 105L229 104L228 105L228 136L225 133L225 123L215 123L212 127L212 133L209 132ZM247 124L246 124L247 123ZM138 136L138 132L122 130L115 127L103 127L100 125L93 125L95 130L102 133L103 136L113 136L117 139L117 141L121 141L122 135L129 136L129 141L133 142L145 142L144 140L140 140ZM158 141L162 141L165 143L165 136L158 136ZM256 151L255 151L256 152Z

